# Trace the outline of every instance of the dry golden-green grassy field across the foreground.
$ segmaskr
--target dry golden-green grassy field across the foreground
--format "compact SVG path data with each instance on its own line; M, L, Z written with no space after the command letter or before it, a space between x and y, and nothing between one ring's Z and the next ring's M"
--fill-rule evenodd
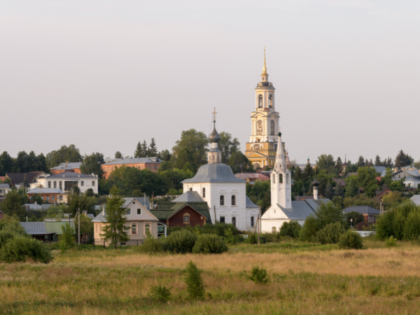
M241 244L222 255L55 252L48 265L0 264L0 314L420 314L420 246L365 246L286 241ZM200 302L186 293L189 260L204 271ZM253 265L267 268L267 284L249 279ZM169 302L149 297L157 285L172 287Z

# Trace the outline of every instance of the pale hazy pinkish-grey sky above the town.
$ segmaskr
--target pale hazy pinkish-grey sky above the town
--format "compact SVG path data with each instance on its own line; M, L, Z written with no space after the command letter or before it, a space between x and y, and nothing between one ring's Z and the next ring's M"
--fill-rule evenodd
M420 160L420 1L0 2L0 151L251 134L263 49L291 160ZM411 119L413 118L413 119Z

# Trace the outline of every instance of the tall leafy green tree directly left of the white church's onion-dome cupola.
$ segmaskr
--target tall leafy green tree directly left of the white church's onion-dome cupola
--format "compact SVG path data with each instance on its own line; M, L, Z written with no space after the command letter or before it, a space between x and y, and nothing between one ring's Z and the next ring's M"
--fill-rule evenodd
M176 141L176 145L172 148L172 151L178 156L183 148L188 148L194 156L193 165L198 169L207 163L208 145L209 139L207 139L204 132L197 132L195 129L190 129L181 132L181 139Z

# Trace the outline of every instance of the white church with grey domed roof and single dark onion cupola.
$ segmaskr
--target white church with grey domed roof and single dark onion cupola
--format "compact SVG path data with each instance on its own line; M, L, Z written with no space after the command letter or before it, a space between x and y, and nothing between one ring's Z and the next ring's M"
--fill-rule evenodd
M211 222L232 223L239 230L253 230L259 207L246 196L246 181L238 179L232 169L222 163L218 141L221 135L214 129L209 136L211 149L207 164L198 169L193 179L183 181L183 192L196 191L209 204Z

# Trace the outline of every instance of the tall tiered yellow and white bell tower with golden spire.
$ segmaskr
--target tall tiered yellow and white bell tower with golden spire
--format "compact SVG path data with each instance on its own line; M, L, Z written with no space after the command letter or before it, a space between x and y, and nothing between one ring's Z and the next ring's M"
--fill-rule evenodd
M251 113L251 137L245 151L254 169L273 167L276 160L280 116L276 112L274 90L276 89L273 84L268 82L264 48L264 67L261 82L255 87L255 111Z

